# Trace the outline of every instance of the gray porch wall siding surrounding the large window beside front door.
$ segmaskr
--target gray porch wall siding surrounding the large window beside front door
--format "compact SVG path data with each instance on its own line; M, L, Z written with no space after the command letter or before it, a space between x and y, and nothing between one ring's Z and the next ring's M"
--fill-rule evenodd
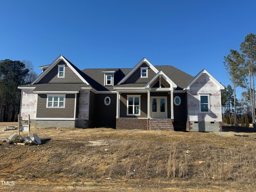
M130 116L127 115L127 95L141 95L140 96L140 116L134 115ZM120 95L120 117L124 118L146 118L147 115L147 94L136 94L136 93L122 93Z

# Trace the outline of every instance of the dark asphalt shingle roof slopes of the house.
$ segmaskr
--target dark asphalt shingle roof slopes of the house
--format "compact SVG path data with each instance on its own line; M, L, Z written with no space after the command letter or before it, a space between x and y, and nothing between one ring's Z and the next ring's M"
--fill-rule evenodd
M68 60L67 60L68 61ZM81 87L92 87L98 91L115 91L114 87L122 88L139 88L144 87L146 83L129 83L117 85L122 78L124 78L132 68L101 68L101 69L84 69L79 70L74 64L68 61L72 67L90 84L84 83L47 83L47 84L33 84L19 86L20 88L27 88L29 86L36 87L34 91L78 91ZM174 66L155 66L157 70L162 70L176 85L176 90L182 90L194 78L193 76L183 72ZM106 71L115 71L114 86L104 86L104 73Z

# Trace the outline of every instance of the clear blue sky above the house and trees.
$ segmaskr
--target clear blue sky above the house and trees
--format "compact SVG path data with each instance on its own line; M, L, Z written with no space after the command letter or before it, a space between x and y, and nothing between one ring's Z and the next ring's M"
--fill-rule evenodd
M1 0L0 60L35 71L63 55L79 69L133 68L143 57L231 84L224 56L256 33L254 0Z

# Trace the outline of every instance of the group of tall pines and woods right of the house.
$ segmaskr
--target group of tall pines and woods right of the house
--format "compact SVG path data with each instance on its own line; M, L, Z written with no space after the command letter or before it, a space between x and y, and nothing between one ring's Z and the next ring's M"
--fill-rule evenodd
M243 126L245 121L252 122L255 128L255 74L256 74L256 35L248 34L240 44L240 52L230 49L224 56L224 66L232 82L222 91L222 110L224 119L234 119L230 124ZM240 100L236 89L244 88Z

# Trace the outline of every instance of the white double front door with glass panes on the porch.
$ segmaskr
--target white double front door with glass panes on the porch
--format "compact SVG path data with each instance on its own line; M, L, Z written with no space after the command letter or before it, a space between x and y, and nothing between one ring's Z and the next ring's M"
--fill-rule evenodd
M166 97L151 97L151 118L167 118L166 101Z

